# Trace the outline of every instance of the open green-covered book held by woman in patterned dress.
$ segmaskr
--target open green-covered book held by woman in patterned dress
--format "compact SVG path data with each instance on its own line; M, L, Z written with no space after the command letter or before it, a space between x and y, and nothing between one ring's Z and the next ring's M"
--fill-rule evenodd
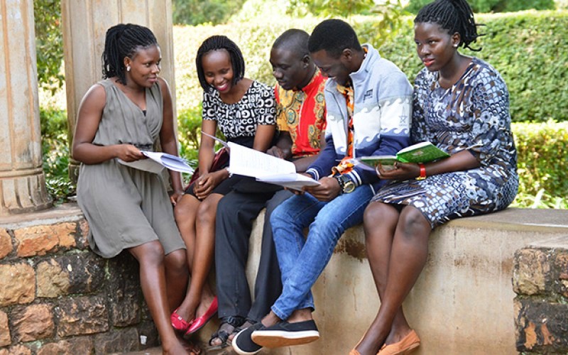
M433 160L448 158L449 154L439 149L430 142L416 143L412 146L400 149L396 155L371 155L355 158L354 163L364 163L373 170L381 165L393 165L400 163L428 163Z

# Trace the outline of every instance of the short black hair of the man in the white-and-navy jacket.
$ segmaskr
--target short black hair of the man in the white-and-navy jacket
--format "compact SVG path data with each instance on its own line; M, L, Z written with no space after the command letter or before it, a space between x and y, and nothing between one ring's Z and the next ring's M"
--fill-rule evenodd
M334 18L324 20L315 26L307 48L310 53L325 50L332 58L339 58L346 48L358 52L362 50L359 38L349 23Z

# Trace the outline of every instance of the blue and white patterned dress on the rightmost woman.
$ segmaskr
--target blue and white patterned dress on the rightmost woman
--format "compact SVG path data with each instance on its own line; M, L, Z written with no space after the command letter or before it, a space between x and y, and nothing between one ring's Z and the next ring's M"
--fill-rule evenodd
M415 80L413 143L430 141L450 155L468 150L479 168L393 182L373 201L411 205L432 228L450 219L498 211L517 195L517 152L510 131L509 94L499 73L473 58L449 89L438 72L421 70Z

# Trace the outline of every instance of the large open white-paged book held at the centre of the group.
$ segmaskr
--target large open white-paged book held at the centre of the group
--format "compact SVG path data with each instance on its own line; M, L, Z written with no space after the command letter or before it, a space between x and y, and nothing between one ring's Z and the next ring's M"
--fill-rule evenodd
M258 181L302 190L302 187L317 186L320 182L305 175L296 173L294 163L276 158L251 148L229 142L231 155L229 173L246 175Z

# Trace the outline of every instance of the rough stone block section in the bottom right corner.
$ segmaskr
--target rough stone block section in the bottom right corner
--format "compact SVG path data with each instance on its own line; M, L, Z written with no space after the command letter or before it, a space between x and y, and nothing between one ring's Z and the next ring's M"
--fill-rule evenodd
M567 238L515 253L516 346L527 354L568 354Z

